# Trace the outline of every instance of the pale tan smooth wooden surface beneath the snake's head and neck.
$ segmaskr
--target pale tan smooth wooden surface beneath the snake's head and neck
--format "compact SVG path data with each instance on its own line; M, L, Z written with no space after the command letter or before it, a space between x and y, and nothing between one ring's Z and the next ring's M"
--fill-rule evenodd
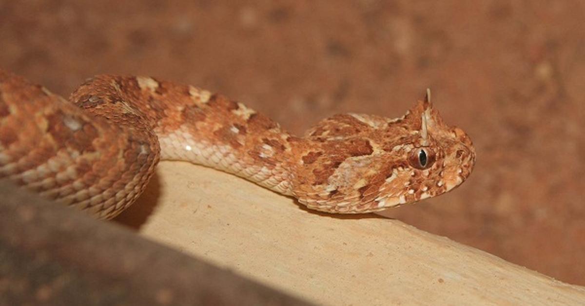
M318 214L241 178L188 163L161 163L146 194L118 221L318 304L585 301L584 287L400 221Z

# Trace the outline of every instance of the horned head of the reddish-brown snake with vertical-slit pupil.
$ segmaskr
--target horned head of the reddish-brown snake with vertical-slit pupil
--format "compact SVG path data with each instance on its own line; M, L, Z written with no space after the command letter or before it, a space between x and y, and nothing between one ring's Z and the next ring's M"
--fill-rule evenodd
M406 115L389 119L335 115L319 122L295 148L292 192L309 208L362 213L435 197L470 175L473 144L446 125L430 92Z

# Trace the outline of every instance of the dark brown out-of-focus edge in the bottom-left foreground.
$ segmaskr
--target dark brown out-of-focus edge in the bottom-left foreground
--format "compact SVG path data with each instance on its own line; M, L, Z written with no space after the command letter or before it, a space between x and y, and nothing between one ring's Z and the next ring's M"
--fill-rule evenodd
M307 305L9 183L0 194L0 305Z

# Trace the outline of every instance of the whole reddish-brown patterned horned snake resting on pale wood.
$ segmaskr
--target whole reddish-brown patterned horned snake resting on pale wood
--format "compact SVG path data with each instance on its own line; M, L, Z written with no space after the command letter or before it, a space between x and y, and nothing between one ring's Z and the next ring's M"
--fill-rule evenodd
M0 69L0 180L111 219L160 160L235 174L316 211L359 214L452 190L476 153L430 91L400 118L337 114L295 136L192 85L97 75L65 99Z

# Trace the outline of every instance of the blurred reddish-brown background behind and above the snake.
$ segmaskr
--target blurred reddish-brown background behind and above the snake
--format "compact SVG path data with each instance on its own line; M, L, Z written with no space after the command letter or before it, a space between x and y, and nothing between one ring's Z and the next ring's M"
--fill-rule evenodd
M66 96L99 73L187 82L295 133L431 87L476 168L388 215L585 285L585 2L235 3L0 0L0 67Z

